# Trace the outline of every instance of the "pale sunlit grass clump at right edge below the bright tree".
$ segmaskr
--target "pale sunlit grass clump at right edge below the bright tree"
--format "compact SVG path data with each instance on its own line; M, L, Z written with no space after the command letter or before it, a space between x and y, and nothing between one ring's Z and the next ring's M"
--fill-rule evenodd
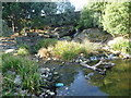
M131 42L123 37L117 37L114 40L110 40L108 46L114 50L131 54Z

